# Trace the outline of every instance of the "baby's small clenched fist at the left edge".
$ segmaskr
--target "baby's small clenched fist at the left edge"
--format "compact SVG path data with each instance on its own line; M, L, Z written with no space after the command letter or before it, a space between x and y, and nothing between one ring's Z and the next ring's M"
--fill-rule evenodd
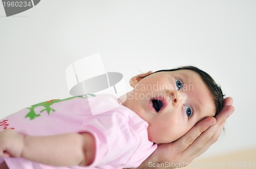
M20 157L24 147L24 136L14 130L0 132L0 156Z

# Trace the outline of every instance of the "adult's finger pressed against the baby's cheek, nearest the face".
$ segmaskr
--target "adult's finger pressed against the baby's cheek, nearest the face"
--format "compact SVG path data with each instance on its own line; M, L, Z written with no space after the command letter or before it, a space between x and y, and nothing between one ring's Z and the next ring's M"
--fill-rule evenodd
M208 117L193 128L191 128L185 135L176 140L175 144L177 150L181 152L185 151L189 145L191 145L195 139L201 135L207 128L216 123L216 119L214 117Z

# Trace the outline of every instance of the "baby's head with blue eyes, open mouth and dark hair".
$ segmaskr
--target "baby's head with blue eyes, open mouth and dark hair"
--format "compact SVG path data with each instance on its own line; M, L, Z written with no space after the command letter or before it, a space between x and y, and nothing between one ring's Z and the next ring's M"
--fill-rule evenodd
M148 138L157 144L175 141L222 108L221 88L194 66L150 71L133 77L130 85L123 105L148 122Z

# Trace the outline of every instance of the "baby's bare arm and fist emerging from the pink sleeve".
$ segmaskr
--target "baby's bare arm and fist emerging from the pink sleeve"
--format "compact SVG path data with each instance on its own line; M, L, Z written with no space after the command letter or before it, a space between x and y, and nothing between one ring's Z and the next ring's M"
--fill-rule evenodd
M53 166L86 166L93 162L95 140L90 133L23 136L14 130L0 132L0 156L23 157Z

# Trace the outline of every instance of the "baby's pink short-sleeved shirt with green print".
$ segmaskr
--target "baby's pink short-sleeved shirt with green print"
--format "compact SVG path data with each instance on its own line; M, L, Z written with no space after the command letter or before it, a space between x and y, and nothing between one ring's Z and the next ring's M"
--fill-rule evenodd
M90 166L52 167L23 158L0 158L0 162L5 160L10 169L124 168L139 166L156 150L147 137L147 122L134 111L113 95L88 96L35 104L2 119L0 130L11 128L33 136L90 132L96 140Z

